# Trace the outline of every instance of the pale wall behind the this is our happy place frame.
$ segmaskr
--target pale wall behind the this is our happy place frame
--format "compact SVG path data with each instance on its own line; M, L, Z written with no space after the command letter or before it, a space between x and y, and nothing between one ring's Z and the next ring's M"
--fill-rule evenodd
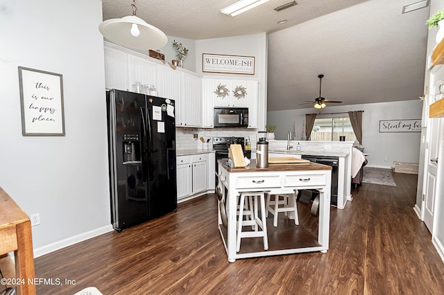
M0 8L0 186L28 215L40 213L32 229L42 254L112 230L102 2L0 0ZM63 75L66 136L22 136L17 66Z

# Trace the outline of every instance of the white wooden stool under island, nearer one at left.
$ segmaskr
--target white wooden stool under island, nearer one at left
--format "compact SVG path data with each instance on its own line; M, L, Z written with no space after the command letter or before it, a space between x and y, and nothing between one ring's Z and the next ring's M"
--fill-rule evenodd
M265 194L264 192L242 192L239 195L239 220L237 221L237 240L236 251L241 249L241 238L260 238L264 239L264 250L268 250L268 238L266 233L266 216L265 216ZM253 199L253 219L244 220L244 206L248 199ZM260 202L261 217L258 214L258 202ZM254 231L242 231L243 226L253 226ZM259 229L260 228L260 229Z

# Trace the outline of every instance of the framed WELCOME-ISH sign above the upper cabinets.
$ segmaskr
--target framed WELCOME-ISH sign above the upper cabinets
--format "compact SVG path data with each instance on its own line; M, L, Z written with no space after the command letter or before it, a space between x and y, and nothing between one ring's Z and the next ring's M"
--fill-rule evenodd
M255 57L203 53L202 71L205 73L235 73L254 75Z

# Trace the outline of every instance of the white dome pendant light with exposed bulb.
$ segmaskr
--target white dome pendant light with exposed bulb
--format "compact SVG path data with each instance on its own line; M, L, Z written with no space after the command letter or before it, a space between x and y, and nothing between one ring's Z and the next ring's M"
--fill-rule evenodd
M165 46L168 42L167 35L136 16L135 0L131 6L133 15L121 19L108 19L99 25L103 37L117 45L132 49L148 50Z

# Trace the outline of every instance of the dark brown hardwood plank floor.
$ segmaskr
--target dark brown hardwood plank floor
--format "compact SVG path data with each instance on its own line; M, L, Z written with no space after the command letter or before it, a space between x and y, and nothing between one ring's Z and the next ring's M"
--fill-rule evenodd
M177 213L35 259L37 294L444 294L444 264L413 212L416 175L397 186L362 184L344 210L331 208L330 250L230 263L216 224L216 197L179 204ZM309 206L300 226L317 234ZM272 216L272 215L271 215ZM282 217L280 217L282 218ZM271 220L271 219L270 219ZM271 222L271 221L270 221Z

